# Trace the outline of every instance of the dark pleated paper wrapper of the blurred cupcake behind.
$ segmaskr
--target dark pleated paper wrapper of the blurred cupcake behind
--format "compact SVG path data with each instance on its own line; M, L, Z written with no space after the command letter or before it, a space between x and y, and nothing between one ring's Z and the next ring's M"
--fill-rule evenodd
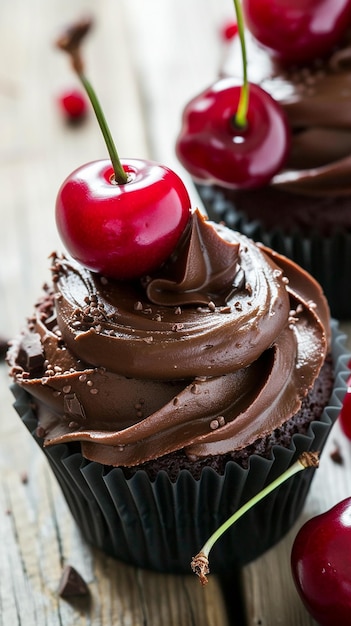
M237 210L220 190L198 185L197 191L211 220L224 221L233 230L301 265L322 285L333 317L351 319L350 233L337 232L325 237L314 232L306 237L298 230L284 234L279 227L267 231L260 221L249 220L245 212Z

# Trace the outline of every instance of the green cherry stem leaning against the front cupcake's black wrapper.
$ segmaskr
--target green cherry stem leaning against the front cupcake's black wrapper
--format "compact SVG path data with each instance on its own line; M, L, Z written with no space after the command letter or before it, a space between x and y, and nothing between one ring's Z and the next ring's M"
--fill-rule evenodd
M208 555L210 550L213 548L216 541L225 533L232 524L234 524L244 513L249 511L251 507L260 502L265 496L271 493L274 489L279 487L286 480L301 472L301 470L306 469L307 467L318 467L319 461L318 452L303 452L298 460L289 467L281 476L278 476L273 482L271 482L267 487L262 489L256 496L251 498L248 502L246 502L240 509L238 509L231 517L229 517L217 530L211 535L211 537L206 541L206 543L201 548L200 552L191 561L191 568L195 574L197 574L200 578L201 584L204 586L207 584L207 576L209 574L209 560Z

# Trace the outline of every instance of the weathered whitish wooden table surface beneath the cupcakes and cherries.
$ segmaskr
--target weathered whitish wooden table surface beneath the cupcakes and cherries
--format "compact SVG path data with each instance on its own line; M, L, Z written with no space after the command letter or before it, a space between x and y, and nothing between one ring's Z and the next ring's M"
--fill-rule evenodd
M174 154L184 103L207 86L224 50L220 26L231 0L2 0L0 6L0 337L11 337L49 279L48 256L62 249L54 203L64 178L105 158L90 116L67 127L57 94L77 84L53 49L62 25L96 18L86 45L88 74L121 156L151 157L184 176ZM200 205L201 206L201 205ZM350 325L343 325L348 332ZM118 563L80 537L46 461L12 409L0 365L0 626L311 626L289 570L301 523L351 493L351 444L335 425L305 509L278 546L242 573L242 607L231 582L215 576L202 589L189 576L165 576ZM331 459L338 445L343 464ZM59 598L71 564L89 585L90 602ZM273 584L274 583L274 584ZM228 602L229 598L229 602Z

